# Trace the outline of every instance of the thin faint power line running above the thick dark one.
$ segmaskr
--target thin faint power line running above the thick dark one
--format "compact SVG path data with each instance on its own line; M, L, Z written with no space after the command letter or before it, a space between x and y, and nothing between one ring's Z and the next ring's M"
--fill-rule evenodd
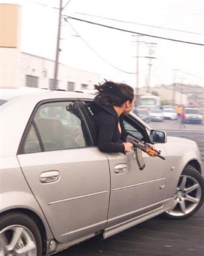
M164 28L164 27L160 27L160 26L142 24L142 23L138 23L138 22L129 22L129 21L124 21L124 20L120 20L120 19L112 19L112 18L107 18L107 17L103 17L103 16L97 16L97 15L87 14L87 13L83 13L83 12L75 12L75 13L76 13L76 14L80 14L80 15L85 15L85 16L96 17L96 18L100 18L100 19L108 19L108 20L117 21L117 22L123 22L123 23L129 23L129 24L136 24L136 25L145 26L145 27L160 28L160 29L165 29L165 30L179 31L179 32L183 32L183 33L190 33L190 34L200 34L200 35L203 35L202 33L197 33L197 32L185 31L185 30L174 29L174 28Z

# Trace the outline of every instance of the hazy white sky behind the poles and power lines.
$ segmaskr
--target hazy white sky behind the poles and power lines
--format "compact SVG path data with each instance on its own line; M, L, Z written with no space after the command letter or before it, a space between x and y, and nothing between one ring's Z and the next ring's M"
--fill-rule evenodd
M3 0L1 3L19 3L22 6L21 50L54 59L59 10L59 0ZM68 0L63 0L63 5ZM44 6L46 5L46 6ZM140 33L169 37L182 41L204 43L203 0L71 0L63 10L74 16L117 28ZM144 25L159 26L194 32L186 33L144 25L128 24L76 12L103 16ZM120 72L107 62L127 72L136 72L136 37L130 33L102 28L70 20L80 37L63 20L59 61L68 66L100 73L103 78L125 81L135 87L136 75ZM85 43L90 45L107 62L100 59ZM151 86L173 82L173 69L179 69L176 81L203 86L204 47L141 37L139 44L139 85L144 86L148 75L148 43L157 43L156 59L152 59ZM181 78L183 78L181 80Z

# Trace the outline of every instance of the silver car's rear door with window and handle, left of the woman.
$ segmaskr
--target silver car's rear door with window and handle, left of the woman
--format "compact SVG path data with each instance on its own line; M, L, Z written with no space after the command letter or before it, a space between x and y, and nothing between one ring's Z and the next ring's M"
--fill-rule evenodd
M105 228L110 174L71 100L46 100L34 109L18 159L54 237L67 242Z

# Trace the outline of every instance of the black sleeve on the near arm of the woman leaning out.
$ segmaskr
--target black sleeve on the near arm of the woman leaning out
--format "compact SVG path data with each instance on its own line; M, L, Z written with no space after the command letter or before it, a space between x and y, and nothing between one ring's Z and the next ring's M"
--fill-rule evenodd
M125 147L121 143L112 142L112 137L117 125L114 116L106 113L98 113L95 117L99 128L98 147L106 153L124 153Z

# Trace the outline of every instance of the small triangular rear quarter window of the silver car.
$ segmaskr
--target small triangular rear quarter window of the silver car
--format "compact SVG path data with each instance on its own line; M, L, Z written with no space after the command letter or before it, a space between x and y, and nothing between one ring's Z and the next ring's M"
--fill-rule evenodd
M34 130L33 125L31 125L28 132L25 144L23 146L23 153L34 153L41 152L40 142L37 138L37 134Z

